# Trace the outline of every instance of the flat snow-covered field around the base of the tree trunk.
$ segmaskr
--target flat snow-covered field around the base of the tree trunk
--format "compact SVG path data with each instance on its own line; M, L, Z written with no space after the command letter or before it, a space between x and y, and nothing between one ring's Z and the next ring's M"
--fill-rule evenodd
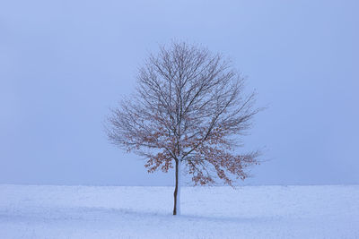
M359 185L0 185L0 238L359 238Z

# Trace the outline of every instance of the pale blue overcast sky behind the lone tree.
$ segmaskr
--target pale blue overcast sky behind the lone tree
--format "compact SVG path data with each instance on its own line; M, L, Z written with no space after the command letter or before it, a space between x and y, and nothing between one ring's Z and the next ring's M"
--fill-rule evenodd
M359 184L358 1L0 2L0 184L172 185L109 144L110 107L171 39L232 59L258 92L241 184Z

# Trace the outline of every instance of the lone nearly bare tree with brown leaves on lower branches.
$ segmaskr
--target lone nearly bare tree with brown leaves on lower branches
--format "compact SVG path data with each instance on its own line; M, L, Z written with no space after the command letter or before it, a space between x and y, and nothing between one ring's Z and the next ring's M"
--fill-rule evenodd
M175 166L173 215L180 214L180 175L194 184L244 180L258 151L235 154L239 136L258 113L255 94L222 55L172 42L139 69L136 92L112 109L109 141L146 158L152 173Z

